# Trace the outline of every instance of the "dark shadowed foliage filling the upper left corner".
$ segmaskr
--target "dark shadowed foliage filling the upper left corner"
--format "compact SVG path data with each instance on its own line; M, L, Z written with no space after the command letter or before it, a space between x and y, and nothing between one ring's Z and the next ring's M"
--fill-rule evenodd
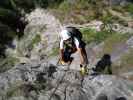
M5 39L0 40L0 57L5 56L6 47L12 43L14 38L20 39L24 35L26 22L21 20L21 17L36 7L47 8L54 4L58 6L62 1L64 0L0 0L0 28L2 24L6 26L7 30L10 29L8 33L3 32L3 28L0 29L0 33L4 34ZM15 35L9 38L12 33L15 33ZM6 40L8 40L8 43Z

